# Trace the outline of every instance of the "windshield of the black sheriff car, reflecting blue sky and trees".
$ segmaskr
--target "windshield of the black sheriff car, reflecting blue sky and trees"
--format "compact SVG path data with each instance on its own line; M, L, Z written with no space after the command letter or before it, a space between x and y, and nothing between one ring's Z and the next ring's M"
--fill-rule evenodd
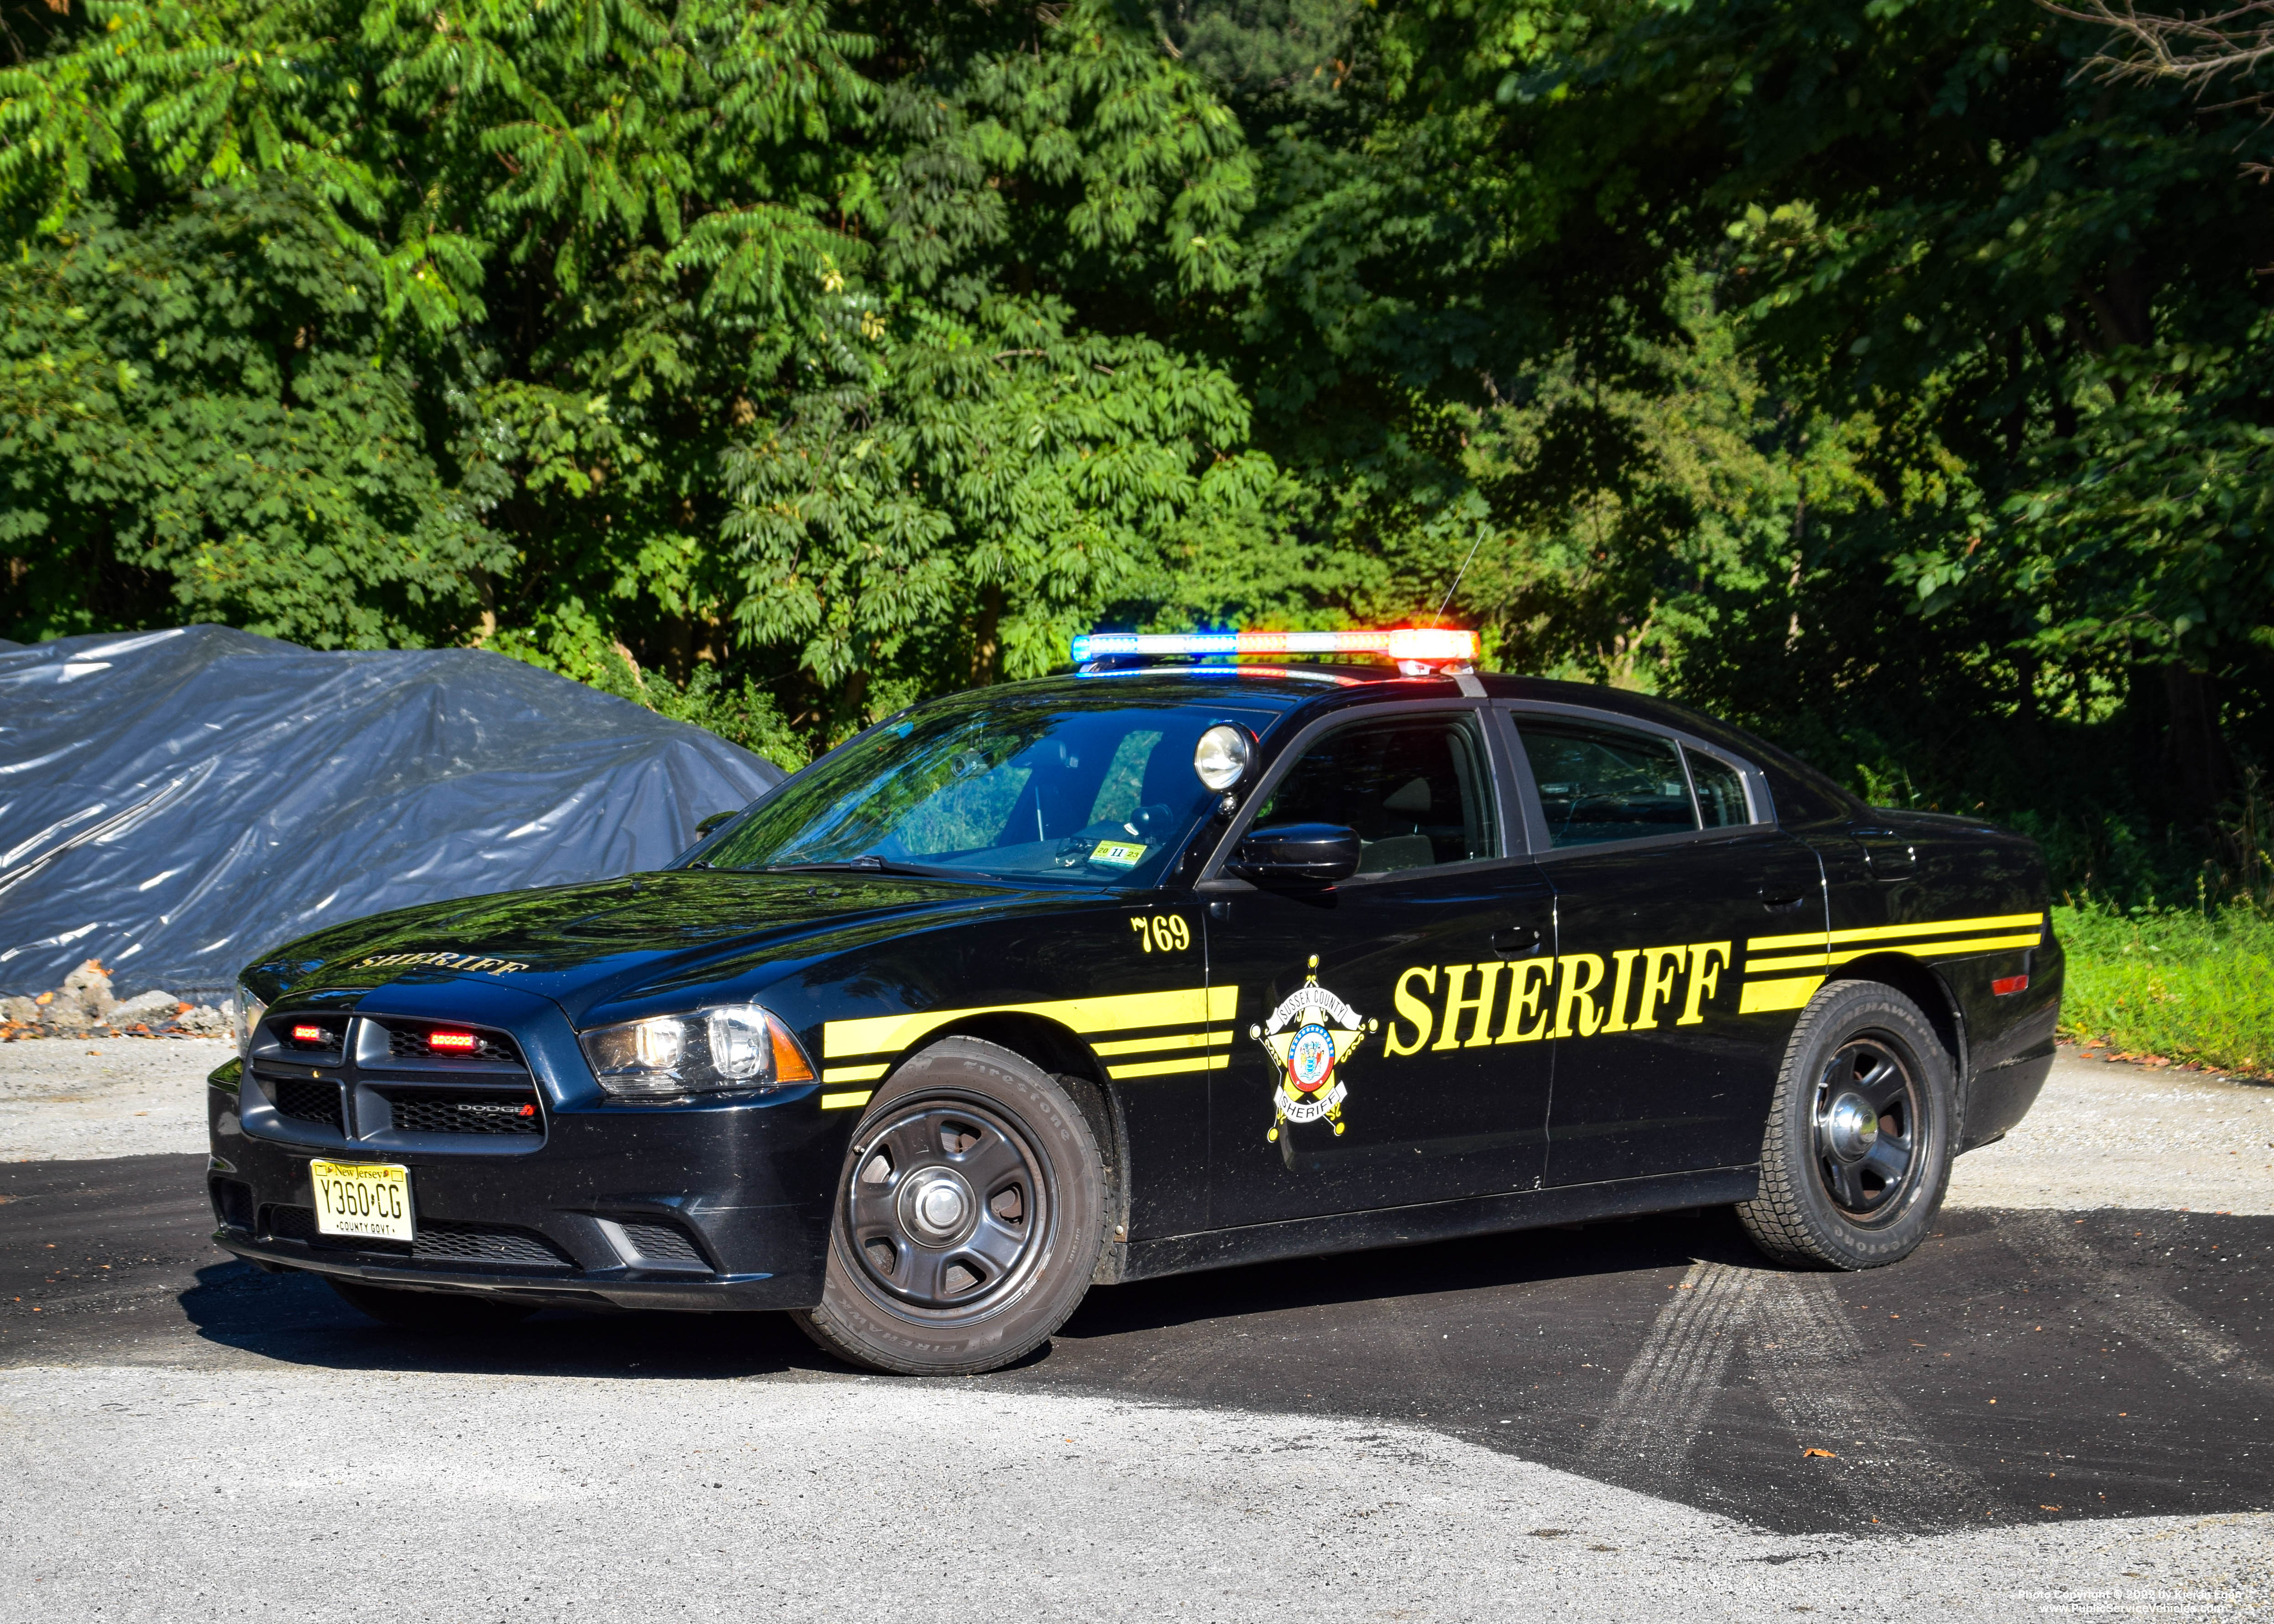
M1214 798L1192 751L1219 721L1260 732L1271 716L1064 694L941 701L823 755L689 857L1155 885Z

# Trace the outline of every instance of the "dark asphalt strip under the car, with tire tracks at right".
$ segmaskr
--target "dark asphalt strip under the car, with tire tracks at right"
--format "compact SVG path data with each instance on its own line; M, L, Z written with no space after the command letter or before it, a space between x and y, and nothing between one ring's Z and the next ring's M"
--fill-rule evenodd
M196 1155L0 1167L0 1365L850 1381L775 1315L387 1331L207 1231ZM1101 1287L930 1390L1396 1424L1776 1533L2222 1517L2274 1508L2269 1296L2274 1217L1953 1210L1833 1276L1694 1212Z

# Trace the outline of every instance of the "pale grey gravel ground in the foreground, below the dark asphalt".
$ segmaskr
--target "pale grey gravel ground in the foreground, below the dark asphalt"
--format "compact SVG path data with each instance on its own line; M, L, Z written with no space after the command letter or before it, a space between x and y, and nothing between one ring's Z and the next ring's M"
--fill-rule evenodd
M1419 1428L976 1383L34 1367L0 1458L0 1619L2242 1619L2274 1585L2263 1513L1769 1535Z

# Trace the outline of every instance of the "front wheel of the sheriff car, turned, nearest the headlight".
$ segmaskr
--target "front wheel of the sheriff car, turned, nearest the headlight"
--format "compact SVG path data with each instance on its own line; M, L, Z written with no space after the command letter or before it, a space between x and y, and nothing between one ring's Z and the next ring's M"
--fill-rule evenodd
M791 1319L898 1376L976 1376L1051 1340L1105 1244L1105 1167L1067 1092L948 1037L869 1101L837 1180L821 1306Z

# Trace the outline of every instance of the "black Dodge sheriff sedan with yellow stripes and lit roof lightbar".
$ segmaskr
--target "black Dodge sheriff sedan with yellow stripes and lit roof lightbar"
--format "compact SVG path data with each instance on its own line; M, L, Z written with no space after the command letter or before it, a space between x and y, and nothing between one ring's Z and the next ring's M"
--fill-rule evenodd
M1094 1283L1665 1208L1894 1262L2044 1083L2028 839L1464 639L1085 644L671 869L246 969L216 1240L396 1324L782 1308L969 1374ZM1321 644L1387 657L1221 657Z

